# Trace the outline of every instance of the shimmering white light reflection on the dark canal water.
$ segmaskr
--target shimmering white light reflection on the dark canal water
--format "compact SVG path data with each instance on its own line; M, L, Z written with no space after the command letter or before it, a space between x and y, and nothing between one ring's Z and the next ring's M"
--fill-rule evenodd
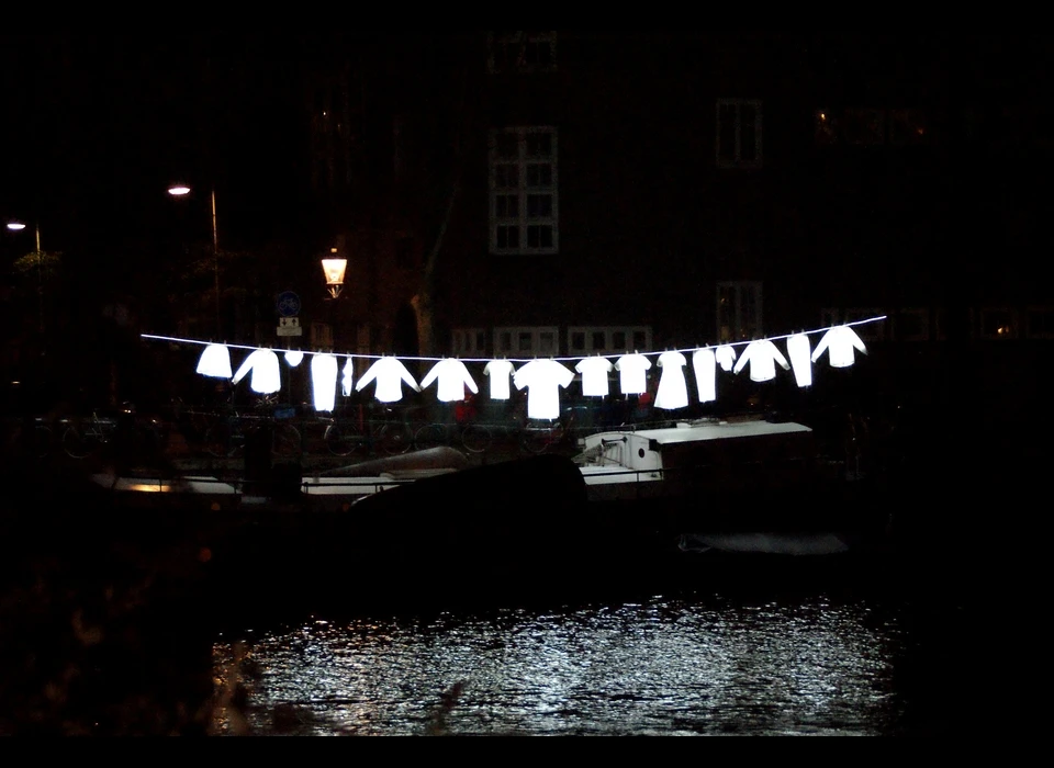
M790 606L657 599L567 612L317 622L245 646L245 727L886 735L901 714L892 669L899 637L896 621L864 603L821 597ZM217 679L229 677L223 670L236 666L234 654L234 646L216 646ZM221 719L217 732L237 726Z

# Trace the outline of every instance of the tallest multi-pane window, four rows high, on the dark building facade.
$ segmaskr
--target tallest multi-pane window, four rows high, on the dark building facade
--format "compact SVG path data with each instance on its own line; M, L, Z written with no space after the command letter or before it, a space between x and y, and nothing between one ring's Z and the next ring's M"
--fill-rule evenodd
M558 252L556 128L494 131L490 168L491 250Z

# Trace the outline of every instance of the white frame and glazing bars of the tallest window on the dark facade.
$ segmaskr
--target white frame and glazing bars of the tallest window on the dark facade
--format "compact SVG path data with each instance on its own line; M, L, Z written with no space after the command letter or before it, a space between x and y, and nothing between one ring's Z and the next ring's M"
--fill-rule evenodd
M497 143L498 136L501 135L514 135L516 137L516 147L517 147L517 157L516 160L509 160L507 158L501 158L497 154ZM539 134L549 134L551 137L551 149L552 156L549 158L548 165L551 167L551 178L550 183L545 187L528 187L527 185L527 172L528 168L532 165L539 165L536 159L532 159L527 155L527 139L529 136L539 135ZM491 131L491 140L489 147L489 179L490 179L490 247L491 252L502 256L547 256L556 255L560 252L560 195L559 190L559 146L558 146L558 132L553 126L531 126L531 127L507 127L507 128L495 128ZM545 162L540 165L547 165ZM503 166L514 166L517 173L517 187L512 188L502 188L497 187L497 169ZM498 217L498 199L507 197L512 194L517 195L517 212L516 216L502 216ZM528 211L528 194L540 194L549 195L552 199L552 211L549 216L529 216ZM527 228L529 226L551 226L552 227L552 245L550 247L530 247L527 245ZM498 246L498 228L516 226L518 227L519 236L517 238L516 247L500 247Z

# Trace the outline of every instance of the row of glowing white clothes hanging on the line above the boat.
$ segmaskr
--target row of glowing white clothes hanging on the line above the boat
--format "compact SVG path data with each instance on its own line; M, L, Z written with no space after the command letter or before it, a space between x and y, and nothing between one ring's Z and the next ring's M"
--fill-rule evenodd
M811 349L807 334L797 334L787 339L786 357L769 339L750 342L742 354L738 355L731 345L707 347L694 350L692 368L695 373L699 403L713 403L717 399L717 368L739 374L750 365L750 379L755 382L772 381L776 376L776 365L786 371L793 369L799 387L812 385L812 364L827 352L832 368L849 368L855 361L855 351L867 352L867 348L856 332L849 326L838 326L826 331L816 349ZM651 353L654 354L654 353ZM332 411L336 404L337 382L340 380L341 393L348 397L375 383L375 397L382 403L396 403L403 397L403 384L415 392L423 392L434 383L438 387L438 399L442 403L456 403L466 398L466 389L478 393L479 387L466 364L455 358L439 360L425 377L418 382L406 366L394 357L380 358L367 372L354 381L354 357L345 355L343 372L337 355L330 353L311 353L311 380L314 407L319 411ZM304 352L284 353L291 368L300 365ZM789 361L787 360L789 358ZM659 388L655 394L655 407L676 410L688 406L688 387L684 369L687 358L680 351L659 353L655 365L661 369ZM553 359L538 359L526 362L516 369L509 360L491 360L483 369L490 379L490 394L493 399L509 398L509 379L517 389L527 389L527 416L532 419L554 419L560 415L560 389L567 388L574 380L575 372L582 374L582 394L586 397L606 397L609 394L608 374L619 373L619 386L624 395L639 395L647 392L647 371L652 368L646 353L627 353L614 363L603 357L583 358L578 361L574 371ZM274 350L257 349L249 353L237 372L232 375L231 351L224 345L209 345L198 362L198 373L205 376L229 379L238 384L250 375L249 387L260 394L272 394L281 389L281 365Z

